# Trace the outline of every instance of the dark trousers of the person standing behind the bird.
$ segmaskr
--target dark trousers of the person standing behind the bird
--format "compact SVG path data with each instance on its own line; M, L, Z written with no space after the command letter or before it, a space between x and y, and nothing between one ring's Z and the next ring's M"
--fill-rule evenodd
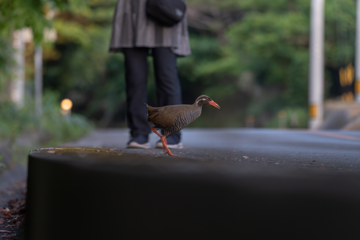
M126 116L132 138L148 136L147 99L148 56L147 47L123 48L125 55ZM176 55L168 47L152 49L159 107L182 104L180 80L177 73ZM180 132L167 137L178 143ZM170 142L169 142L170 144Z

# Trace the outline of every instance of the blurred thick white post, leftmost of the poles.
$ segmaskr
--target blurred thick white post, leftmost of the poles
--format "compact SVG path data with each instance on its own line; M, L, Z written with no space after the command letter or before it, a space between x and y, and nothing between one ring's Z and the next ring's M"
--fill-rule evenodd
M21 30L15 30L13 37L16 66L10 84L10 98L19 108L21 108L24 105L25 95L25 43L23 41L23 32Z

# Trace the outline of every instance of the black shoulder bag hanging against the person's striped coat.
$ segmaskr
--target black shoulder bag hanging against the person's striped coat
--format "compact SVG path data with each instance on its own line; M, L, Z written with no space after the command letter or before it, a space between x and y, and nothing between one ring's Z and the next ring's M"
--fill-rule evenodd
M182 0L148 0L146 13L157 23L171 27L185 15L186 5Z

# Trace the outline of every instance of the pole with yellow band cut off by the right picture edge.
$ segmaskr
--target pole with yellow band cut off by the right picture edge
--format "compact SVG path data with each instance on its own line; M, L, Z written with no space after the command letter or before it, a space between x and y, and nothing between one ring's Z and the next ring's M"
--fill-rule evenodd
M360 0L356 1L355 101L360 103Z

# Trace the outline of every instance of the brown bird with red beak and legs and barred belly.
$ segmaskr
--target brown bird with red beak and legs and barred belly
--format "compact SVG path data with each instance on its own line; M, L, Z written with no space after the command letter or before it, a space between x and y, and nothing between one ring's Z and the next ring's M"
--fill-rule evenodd
M160 140L166 149L164 155L168 154L171 157L181 157L170 152L167 147L166 137L171 133L179 132L181 129L194 122L200 117L202 106L209 104L220 109L219 105L206 95L199 96L192 105L180 104L155 108L146 104L148 122L155 125L151 129L156 135L161 137ZM164 130L164 135L157 132L157 130L160 129Z

